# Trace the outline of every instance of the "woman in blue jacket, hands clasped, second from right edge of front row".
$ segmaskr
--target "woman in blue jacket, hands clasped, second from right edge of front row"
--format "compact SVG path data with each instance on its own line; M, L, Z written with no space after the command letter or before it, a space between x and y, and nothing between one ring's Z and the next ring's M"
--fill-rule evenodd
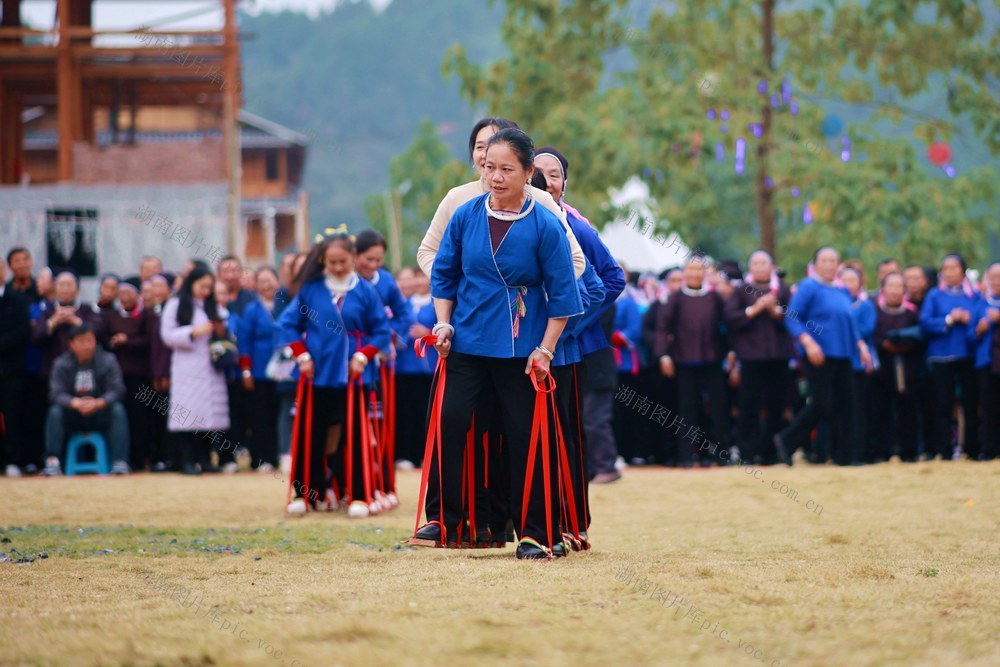
M965 277L965 260L948 255L941 262L941 282L924 299L920 311L920 330L927 339L927 361L934 386L935 429L927 444L927 460L941 455L952 459L951 414L956 400L961 400L965 417L965 453L979 456L979 387L969 345L968 330L974 328L972 315L979 294Z

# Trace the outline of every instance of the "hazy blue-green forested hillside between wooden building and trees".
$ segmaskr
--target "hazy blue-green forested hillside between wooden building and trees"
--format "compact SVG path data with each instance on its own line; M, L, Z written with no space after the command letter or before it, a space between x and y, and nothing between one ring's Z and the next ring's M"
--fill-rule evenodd
M244 15L244 106L310 137L306 189L313 229L365 224L365 196L428 118L456 156L476 113L441 75L458 42L487 62L502 54L502 3L395 0L382 13L341 5L304 14Z

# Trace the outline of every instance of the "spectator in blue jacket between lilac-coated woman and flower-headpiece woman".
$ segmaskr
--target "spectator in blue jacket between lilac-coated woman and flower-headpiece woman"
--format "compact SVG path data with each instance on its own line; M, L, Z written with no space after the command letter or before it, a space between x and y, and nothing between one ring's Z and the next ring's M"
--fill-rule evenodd
M252 397L250 461L262 473L278 463L277 383L267 377L267 364L277 347L274 295L278 274L269 266L257 269L257 298L243 311L236 327L243 388Z

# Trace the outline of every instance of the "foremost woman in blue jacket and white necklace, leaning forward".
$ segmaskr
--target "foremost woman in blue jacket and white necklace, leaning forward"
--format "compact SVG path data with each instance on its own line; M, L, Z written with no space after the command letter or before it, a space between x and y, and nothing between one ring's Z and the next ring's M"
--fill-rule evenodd
M464 520L460 480L466 435L487 385L496 389L503 417L511 514L516 520L522 516L535 393L528 376L548 375L567 318L583 312L566 233L555 216L535 206L528 190L533 157L531 139L520 130L491 137L485 161L490 192L459 207L434 260L434 333L438 353L448 361L441 460L425 465L431 485L440 483L442 493L440 500L428 497L430 521L417 530L416 544L453 539ZM554 448L549 454L554 461ZM536 471L518 558L551 556L543 542L551 545L547 518L558 520L558 498L553 494L555 502L545 506L536 483L541 466Z

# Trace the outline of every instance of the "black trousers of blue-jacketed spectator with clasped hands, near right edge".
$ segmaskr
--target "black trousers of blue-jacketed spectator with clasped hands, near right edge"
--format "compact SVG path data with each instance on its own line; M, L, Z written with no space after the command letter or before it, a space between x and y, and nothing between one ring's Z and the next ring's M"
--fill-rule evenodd
M972 360L932 361L931 380L934 383L937 419L927 458L940 454L945 461L951 459L951 414L957 398L965 417L963 448L970 459L976 460L979 458L979 381Z

